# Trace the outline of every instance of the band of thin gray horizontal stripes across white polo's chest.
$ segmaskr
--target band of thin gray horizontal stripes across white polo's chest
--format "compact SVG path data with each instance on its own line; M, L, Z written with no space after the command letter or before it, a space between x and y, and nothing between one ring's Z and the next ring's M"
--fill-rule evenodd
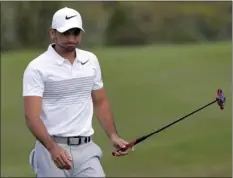
M46 81L43 95L45 105L67 105L86 102L91 97L94 76L61 81Z

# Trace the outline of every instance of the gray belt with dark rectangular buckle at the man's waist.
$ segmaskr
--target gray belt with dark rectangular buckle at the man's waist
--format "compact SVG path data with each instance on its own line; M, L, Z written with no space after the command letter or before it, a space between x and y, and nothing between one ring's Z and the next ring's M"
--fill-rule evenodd
M91 141L91 136L60 137L52 136L55 142L67 145L82 145Z

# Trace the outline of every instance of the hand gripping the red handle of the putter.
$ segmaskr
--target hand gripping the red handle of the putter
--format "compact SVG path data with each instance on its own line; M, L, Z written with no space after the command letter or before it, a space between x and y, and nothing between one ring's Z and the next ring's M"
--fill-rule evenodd
M118 150L120 148L125 148L125 146L128 144L127 141L120 138L118 135L112 135L111 141L113 143L113 146ZM132 147L132 151L134 150L134 147ZM116 152L115 156L125 156L128 155L128 151L118 151Z

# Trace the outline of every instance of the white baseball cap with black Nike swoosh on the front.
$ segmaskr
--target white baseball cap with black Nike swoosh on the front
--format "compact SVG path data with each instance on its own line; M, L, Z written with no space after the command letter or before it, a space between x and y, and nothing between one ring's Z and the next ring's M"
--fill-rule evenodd
M78 11L64 7L53 15L52 28L63 33L71 28L79 28L83 32L82 17Z

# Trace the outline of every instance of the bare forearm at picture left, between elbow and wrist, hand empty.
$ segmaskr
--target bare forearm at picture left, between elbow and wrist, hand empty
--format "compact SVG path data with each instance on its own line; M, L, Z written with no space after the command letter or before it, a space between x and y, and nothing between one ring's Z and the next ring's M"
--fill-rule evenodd
M48 134L43 122L39 118L26 116L26 124L36 139L39 140L48 150L54 146L55 142Z

